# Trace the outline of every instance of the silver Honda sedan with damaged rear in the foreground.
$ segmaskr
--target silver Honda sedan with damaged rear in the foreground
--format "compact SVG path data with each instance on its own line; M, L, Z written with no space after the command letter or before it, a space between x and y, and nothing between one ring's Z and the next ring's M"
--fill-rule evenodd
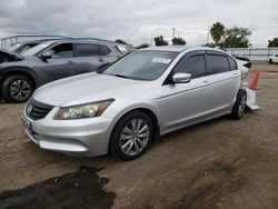
M159 136L225 115L240 119L245 104L235 58L210 48L161 47L39 88L23 125L42 149L132 160Z

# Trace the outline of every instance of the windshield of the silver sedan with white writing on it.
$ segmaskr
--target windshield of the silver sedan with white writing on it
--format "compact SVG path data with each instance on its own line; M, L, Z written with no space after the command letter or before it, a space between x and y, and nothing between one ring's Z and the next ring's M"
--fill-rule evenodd
M170 51L137 51L100 73L135 80L156 80L165 72L177 54L177 52Z

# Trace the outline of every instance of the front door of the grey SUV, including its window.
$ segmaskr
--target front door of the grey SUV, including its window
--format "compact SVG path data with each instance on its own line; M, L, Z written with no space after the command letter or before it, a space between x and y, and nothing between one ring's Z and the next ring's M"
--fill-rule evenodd
M39 68L37 72L42 78L42 83L76 74L76 58L73 57L72 43L56 44L43 53L51 56L37 67Z

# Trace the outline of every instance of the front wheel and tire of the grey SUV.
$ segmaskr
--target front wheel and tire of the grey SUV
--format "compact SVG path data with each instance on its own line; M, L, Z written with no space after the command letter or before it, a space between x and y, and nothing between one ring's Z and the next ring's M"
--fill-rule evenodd
M2 83L2 96L8 102L24 102L34 90L32 81L21 74L10 76Z

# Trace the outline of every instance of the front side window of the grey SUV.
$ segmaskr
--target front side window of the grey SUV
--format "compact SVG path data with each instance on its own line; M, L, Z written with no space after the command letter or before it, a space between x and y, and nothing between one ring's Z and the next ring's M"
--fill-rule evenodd
M48 56L50 56L53 59L57 58L71 58L73 56L72 51L72 44L71 43L61 43L58 46L54 46L53 48L46 51Z

